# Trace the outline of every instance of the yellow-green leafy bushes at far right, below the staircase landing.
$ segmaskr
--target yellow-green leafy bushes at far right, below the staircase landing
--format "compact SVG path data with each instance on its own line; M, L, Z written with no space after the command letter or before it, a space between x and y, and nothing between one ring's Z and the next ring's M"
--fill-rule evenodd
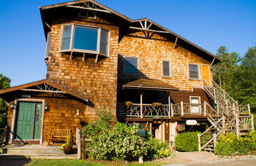
M251 135L246 136L245 138L239 136L236 137L236 134L227 133L226 135L220 135L220 142L216 143L215 154L217 155L234 155L234 154L248 154L253 149L252 140L250 137L255 137L255 133L251 132ZM255 139L254 139L255 141ZM222 150L222 153L220 152ZM229 153L230 151L230 153Z

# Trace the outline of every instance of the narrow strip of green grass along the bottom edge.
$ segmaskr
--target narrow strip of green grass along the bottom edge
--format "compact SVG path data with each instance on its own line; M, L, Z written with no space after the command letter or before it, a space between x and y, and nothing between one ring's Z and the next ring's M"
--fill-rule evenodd
M104 162L104 161L102 161ZM119 163L119 164L118 164ZM109 163L99 163L99 162L87 162L84 160L70 160L70 159L56 159L56 160L48 160L48 159L37 159L35 162L33 162L30 166L59 166L59 165L65 165L65 166L108 166L108 165L119 165L119 166L125 166L124 162L113 162L112 164ZM163 163L152 163L152 162L144 162L143 164L132 163L127 164L130 166L160 166Z

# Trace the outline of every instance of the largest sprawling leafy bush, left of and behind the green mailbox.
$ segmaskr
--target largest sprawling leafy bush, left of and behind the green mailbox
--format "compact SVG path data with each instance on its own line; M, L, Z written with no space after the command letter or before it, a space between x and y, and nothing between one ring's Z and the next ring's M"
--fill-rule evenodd
M91 121L84 127L82 133L92 142L86 144L86 148L94 150L89 152L93 159L97 160L131 160L140 157L140 154L148 155L149 149L154 149L151 139L152 133L148 137L142 137L143 145L140 145L140 139L137 136L139 126L123 124L116 122L111 126L111 113L105 109L99 109L97 113L99 120ZM162 147L166 147L165 145ZM169 147L168 147L169 149ZM160 152L156 150L152 156L158 153L158 156L168 154L165 148Z

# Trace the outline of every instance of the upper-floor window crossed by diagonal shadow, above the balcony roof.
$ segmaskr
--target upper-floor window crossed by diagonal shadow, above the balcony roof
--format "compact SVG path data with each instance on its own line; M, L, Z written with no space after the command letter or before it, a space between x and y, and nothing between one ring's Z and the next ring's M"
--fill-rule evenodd
M125 57L124 73L138 74L138 71L139 71L139 58Z

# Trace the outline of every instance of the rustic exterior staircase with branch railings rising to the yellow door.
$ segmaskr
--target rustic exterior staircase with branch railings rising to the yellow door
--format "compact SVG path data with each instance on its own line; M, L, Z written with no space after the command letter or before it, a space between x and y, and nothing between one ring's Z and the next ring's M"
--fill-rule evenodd
M199 151L214 151L215 143L220 134L236 133L246 135L254 130L253 115L250 105L238 105L224 89L218 86L212 79L207 83L203 79L203 89L214 101L214 108L206 103L208 121L212 124L205 132L198 134Z

